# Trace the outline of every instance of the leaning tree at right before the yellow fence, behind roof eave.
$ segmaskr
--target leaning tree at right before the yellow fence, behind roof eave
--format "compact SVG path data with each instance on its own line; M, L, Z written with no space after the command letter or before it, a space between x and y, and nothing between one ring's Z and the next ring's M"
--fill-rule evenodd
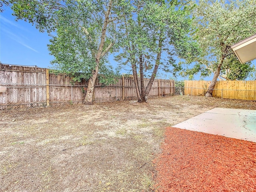
M255 70L250 62L240 64L231 46L256 34L256 0L199 0L194 9L194 31L201 54L194 67L182 72L192 77L214 74L206 92L212 96L217 79L243 80ZM194 63L195 62L195 63Z

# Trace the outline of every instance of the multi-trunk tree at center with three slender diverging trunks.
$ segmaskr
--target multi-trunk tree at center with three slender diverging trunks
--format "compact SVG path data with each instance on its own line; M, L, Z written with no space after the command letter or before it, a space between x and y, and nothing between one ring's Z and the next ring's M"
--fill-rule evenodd
M174 1L135 0L130 16L124 17L122 52L116 60L132 67L138 102L146 102L160 66L168 71L175 64L174 56L187 58L197 54L196 44L188 38L189 11L186 6L176 5ZM150 80L144 85L146 74Z

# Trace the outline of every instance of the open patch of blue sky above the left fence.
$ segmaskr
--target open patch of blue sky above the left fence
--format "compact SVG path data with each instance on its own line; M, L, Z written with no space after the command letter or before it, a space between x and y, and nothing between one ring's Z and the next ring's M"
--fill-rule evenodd
M36 65L47 68L53 59L47 44L50 37L31 23L16 22L12 10L5 8L0 16L0 61L4 64Z

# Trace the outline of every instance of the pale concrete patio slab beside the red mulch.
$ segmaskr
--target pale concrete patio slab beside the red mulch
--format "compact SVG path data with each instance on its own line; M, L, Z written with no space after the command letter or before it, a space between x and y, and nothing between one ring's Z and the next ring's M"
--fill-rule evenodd
M256 110L214 108L173 127L256 142Z

